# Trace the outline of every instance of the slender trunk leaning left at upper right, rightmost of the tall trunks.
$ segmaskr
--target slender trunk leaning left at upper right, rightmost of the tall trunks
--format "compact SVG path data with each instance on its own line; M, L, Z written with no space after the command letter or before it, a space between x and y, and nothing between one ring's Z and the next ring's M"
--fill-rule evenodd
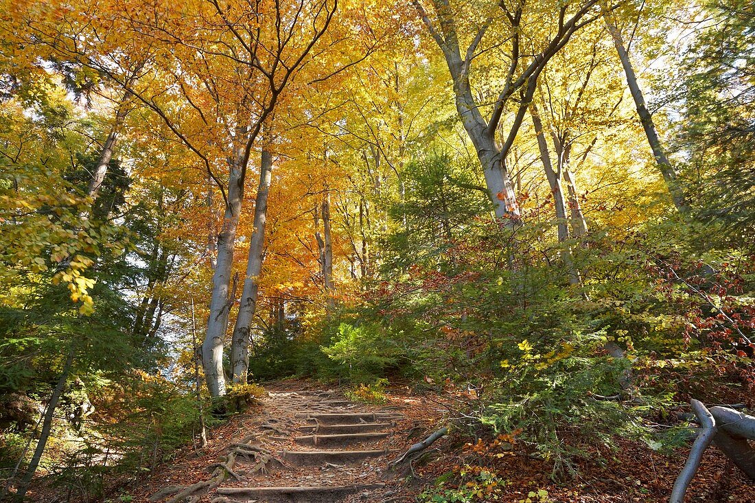
M668 160L666 151L661 144L661 139L658 137L658 130L655 128L652 114L645 103L643 91L639 88L639 84L637 83L637 76L636 73L634 73L632 62L629 59L627 48L624 46L624 39L621 37L621 31L615 23L613 14L606 11L605 8L603 10L603 19L606 20L606 27L611 33L614 47L621 60L621 66L624 67L624 74L627 76L627 86L634 99L637 115L639 116L639 121L643 124L645 135L648 138L653 157L655 157L655 163L658 165L658 169L661 170L661 174L663 174L664 181L666 182L666 186L668 187L668 191L671 194L671 199L673 199L673 204L676 206L676 209L678 211L686 211L687 205L682 187L676 179L676 171L674 171L671 162Z

